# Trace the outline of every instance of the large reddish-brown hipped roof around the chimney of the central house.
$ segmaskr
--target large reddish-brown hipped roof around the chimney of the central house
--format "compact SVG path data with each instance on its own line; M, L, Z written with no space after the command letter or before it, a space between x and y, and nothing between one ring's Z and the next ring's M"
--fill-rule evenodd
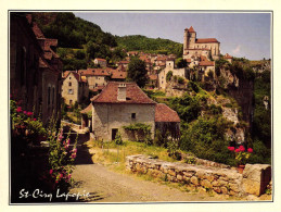
M117 100L118 82L110 82L98 97L93 97L91 101L93 103L138 103L138 104L155 104L136 83L122 83L126 84L126 101Z

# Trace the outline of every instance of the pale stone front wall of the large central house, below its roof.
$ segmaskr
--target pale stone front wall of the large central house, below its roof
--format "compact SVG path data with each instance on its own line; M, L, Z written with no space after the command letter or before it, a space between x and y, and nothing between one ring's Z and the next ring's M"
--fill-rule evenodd
M132 114L135 114L135 117ZM126 132L123 126L144 123L151 126L151 135L154 138L154 104L94 103L92 110L92 130L98 140L113 140L114 130L119 132L124 140L135 140L132 135Z

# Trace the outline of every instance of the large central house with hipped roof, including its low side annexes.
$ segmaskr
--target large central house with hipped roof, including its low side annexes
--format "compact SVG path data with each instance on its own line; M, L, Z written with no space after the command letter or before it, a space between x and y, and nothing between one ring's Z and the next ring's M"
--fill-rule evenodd
M91 120L86 115L91 111ZM91 104L81 111L82 127L91 126L98 140L114 140L119 132L124 140L135 140L124 126L142 123L151 126L154 138L155 126L165 133L175 129L178 135L179 116L166 104L158 105L136 83L110 82L101 93L91 99Z

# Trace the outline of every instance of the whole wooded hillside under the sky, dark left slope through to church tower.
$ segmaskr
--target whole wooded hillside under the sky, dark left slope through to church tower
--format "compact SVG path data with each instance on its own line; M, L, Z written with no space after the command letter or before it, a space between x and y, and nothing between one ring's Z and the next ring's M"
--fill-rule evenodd
M58 53L63 60L64 71L94 67L94 58L106 59L114 65L126 57L124 49L182 57L181 43L141 35L113 36L71 12L33 13L33 16L47 38L59 40Z

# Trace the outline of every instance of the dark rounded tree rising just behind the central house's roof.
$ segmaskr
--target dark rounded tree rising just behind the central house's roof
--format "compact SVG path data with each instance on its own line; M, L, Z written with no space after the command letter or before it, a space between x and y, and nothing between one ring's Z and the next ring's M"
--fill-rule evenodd
M148 83L148 71L145 70L145 62L135 57L130 60L128 65L128 80L133 80L141 88Z

